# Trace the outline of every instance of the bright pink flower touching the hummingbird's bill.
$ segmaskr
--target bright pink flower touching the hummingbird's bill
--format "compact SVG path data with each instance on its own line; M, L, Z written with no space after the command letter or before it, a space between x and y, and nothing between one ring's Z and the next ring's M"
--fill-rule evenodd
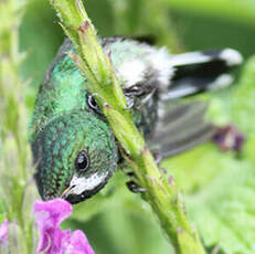
M94 254L85 234L77 230L62 231L60 224L73 212L72 205L63 199L35 201L34 213L41 237L38 253L45 254Z

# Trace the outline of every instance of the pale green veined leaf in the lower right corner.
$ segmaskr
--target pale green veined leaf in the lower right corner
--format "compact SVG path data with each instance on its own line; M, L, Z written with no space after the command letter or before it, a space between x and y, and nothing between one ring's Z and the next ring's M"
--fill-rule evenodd
M254 166L230 159L210 186L187 201L206 246L220 245L226 253L254 253Z

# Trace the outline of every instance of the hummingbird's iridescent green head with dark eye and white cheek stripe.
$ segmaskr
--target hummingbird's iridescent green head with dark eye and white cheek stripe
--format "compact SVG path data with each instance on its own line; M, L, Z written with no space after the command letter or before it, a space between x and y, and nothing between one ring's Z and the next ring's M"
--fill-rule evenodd
M98 192L118 160L108 124L91 112L74 110L51 120L36 135L32 151L42 199L61 197L71 203Z

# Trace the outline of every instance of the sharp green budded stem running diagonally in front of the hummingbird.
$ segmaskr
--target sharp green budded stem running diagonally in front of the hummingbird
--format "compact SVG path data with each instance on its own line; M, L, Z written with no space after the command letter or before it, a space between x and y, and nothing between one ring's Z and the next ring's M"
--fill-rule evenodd
M77 54L71 54L86 76L88 91L96 100L132 166L144 194L177 253L205 253L194 227L189 223L173 179L158 169L144 137L132 123L121 86L110 63L110 52L104 52L95 29L81 0L54 0L54 9Z

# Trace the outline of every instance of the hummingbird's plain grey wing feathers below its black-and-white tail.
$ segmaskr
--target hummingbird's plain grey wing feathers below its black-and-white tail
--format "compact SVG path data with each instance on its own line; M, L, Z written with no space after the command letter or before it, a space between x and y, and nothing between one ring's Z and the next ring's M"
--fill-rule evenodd
M215 126L204 120L206 108L203 102L162 105L155 131L147 137L149 147L166 158L210 140Z

